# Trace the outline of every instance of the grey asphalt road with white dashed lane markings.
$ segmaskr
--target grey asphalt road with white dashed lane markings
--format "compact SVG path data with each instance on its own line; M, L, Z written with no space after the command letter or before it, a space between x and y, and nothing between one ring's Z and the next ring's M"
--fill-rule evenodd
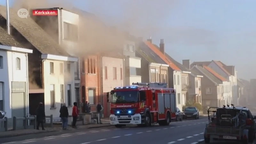
M117 129L107 127L105 129L93 129L87 131L77 131L48 137L31 138L23 136L16 139L4 138L0 141L5 144L196 144L203 140L203 132L206 117L198 120L184 120L182 122L172 122L169 126L154 125L151 127L124 127Z

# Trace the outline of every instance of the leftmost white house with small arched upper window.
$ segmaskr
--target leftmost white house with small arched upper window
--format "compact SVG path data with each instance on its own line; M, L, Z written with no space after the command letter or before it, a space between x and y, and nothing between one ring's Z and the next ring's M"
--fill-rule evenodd
M28 116L28 53L32 50L0 45L0 110L7 118Z

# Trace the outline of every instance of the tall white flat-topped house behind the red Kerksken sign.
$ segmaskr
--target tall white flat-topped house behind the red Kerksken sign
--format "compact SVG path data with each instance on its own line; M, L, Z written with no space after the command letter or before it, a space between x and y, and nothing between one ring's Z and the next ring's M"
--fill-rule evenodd
M33 20L40 25L45 32L57 41L68 54L77 56L79 53L78 40L79 40L79 15L65 10L63 8L50 8L57 10L56 16L32 16ZM40 9L38 9L40 10ZM49 10L49 8L47 8ZM51 25L51 26L49 26ZM73 65L73 64L72 64ZM75 79L75 101L80 106L80 59L74 62L74 79ZM61 102L64 102L61 100Z

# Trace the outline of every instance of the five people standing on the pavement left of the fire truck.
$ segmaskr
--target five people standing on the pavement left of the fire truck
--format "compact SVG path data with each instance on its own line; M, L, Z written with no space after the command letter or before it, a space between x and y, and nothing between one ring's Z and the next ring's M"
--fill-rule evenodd
M77 121L78 114L79 114L80 110L77 108L77 102L74 102L73 104L74 104L74 106L72 108L72 117L73 117L72 128L77 128L76 121ZM103 110L103 107L99 103L97 105L97 112L100 113L100 118L102 117L102 110ZM91 106L87 101L84 104L84 111L85 111L85 113L91 112ZM62 129L63 130L67 130L68 116L69 116L68 107L66 106L66 103L63 103L60 108L60 118L62 121ZM42 130L45 130L44 129L44 120L45 120L44 106L43 106L43 103L40 102L38 108L36 109L36 122L37 122L36 129L37 130L39 130L40 124L42 126ZM102 124L101 120L99 121L99 123Z

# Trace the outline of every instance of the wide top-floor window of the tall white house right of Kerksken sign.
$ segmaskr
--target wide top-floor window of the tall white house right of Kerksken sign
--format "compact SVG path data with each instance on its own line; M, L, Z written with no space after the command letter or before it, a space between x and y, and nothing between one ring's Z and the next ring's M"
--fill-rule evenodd
M63 22L64 40L77 41L78 27L74 24Z

